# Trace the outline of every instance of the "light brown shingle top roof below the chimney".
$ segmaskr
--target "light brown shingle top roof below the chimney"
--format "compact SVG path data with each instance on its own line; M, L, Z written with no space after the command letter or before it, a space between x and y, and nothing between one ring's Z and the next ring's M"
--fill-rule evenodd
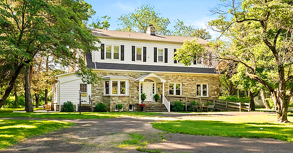
M205 44L208 41L196 38L196 37L180 37L180 36L166 36L166 35L149 35L147 33L134 33L134 32L125 32L125 31L115 31L115 30L103 30L103 29L91 29L92 34L98 37L114 37L114 38L123 38L123 39L140 39L140 40L157 40L157 41L166 41L166 42L178 42L183 43L184 40L193 40L197 39L198 43Z

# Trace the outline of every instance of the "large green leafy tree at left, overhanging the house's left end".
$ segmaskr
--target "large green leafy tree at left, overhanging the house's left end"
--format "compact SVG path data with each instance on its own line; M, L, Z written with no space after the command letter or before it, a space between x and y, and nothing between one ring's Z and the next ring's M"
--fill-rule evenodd
M73 56L98 49L95 44L100 43L99 39L86 28L88 18L95 13L91 5L80 0L7 0L0 1L0 6L0 62L4 63L0 69L10 74L0 98L0 108L20 72L31 66L36 55L55 57L61 66L76 65L79 71L75 75L83 82L93 83L99 79L86 68L82 56ZM29 100L28 78L26 74L25 96Z

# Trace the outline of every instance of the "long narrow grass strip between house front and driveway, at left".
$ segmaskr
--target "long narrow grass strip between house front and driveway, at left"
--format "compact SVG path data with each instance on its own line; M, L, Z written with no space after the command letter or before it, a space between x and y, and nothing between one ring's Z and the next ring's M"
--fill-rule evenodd
M115 118L123 116L154 116L161 113L150 113L150 112L79 112L65 113L65 112L52 112L52 113L13 113L13 111L21 111L22 109L0 109L0 118L9 117L29 117L29 118L52 118L52 119L101 119L101 118Z

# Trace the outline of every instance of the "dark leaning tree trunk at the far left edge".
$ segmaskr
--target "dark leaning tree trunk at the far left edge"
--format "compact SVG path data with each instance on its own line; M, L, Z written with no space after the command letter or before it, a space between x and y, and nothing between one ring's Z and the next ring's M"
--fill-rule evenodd
M24 64L22 63L15 69L14 74L12 75L11 80L9 81L8 86L5 89L4 94L1 95L0 108L5 104L6 99L9 97L9 95L13 89L13 86L16 82L17 76L19 75L19 73L23 67L24 67Z

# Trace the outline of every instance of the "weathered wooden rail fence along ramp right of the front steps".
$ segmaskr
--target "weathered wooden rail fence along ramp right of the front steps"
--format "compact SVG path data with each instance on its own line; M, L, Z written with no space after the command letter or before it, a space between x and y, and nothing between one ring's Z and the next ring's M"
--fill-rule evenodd
M204 97L193 97L193 96L179 96L179 95L166 95L166 99L170 102L171 105L175 101L181 101L185 105L185 110L187 110L187 106L191 106L191 102L195 101L198 102L201 106L208 104L212 104L215 106L215 110L222 110L222 111L243 111L249 112L250 111L250 103L241 103L241 102L234 102L229 100L222 100L222 99L210 99Z

